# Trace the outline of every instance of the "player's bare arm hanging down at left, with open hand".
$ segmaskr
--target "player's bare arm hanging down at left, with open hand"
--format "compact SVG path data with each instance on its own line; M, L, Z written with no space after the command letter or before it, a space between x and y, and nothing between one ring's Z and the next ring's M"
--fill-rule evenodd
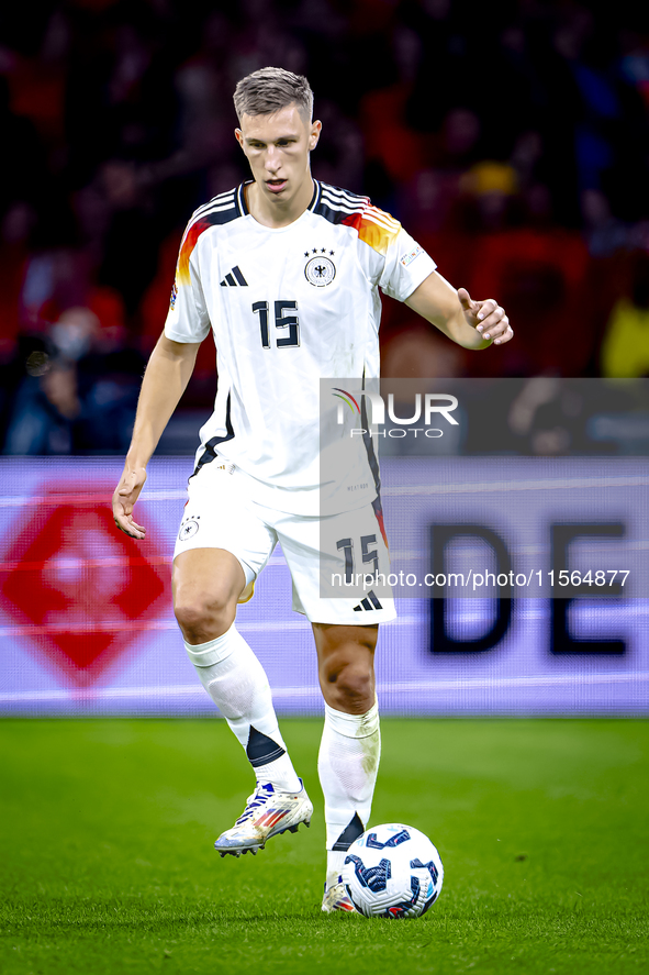
M174 342L163 333L148 361L131 446L113 495L115 524L132 539L146 535L146 529L133 520L133 507L146 480L146 466L189 383L200 345Z

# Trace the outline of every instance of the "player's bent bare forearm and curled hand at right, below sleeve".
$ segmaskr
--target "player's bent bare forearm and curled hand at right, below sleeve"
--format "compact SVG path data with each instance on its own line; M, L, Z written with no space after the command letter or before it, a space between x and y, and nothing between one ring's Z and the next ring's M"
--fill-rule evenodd
M405 303L465 348L504 345L514 335L504 308L494 298L473 301L466 288L456 291L436 270Z

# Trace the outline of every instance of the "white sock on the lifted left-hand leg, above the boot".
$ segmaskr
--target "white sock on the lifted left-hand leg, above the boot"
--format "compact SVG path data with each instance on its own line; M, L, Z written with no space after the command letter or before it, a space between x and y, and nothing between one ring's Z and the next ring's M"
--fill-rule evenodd
M238 738L259 784L300 791L264 667L233 623L216 640L184 644L201 684Z

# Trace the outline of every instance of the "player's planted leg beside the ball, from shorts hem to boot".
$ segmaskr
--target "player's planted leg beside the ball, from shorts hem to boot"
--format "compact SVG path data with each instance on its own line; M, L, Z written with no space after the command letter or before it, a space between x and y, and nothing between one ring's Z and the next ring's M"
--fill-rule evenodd
M323 910L354 910L340 884L347 850L365 831L381 755L376 698L378 627L314 623L325 724L318 773L325 798L327 872Z

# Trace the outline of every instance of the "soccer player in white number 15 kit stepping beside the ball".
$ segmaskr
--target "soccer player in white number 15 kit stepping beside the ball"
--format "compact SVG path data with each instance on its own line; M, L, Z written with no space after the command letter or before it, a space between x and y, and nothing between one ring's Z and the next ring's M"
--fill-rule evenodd
M313 628L324 697L323 910L353 910L340 872L370 816L380 756L373 654L378 624L395 612L391 598L372 591L360 603L321 595L323 558L342 574L361 549L374 568L388 572L389 563L369 474L327 485L323 503L318 381L378 377L379 287L466 348L501 344L513 333L496 301L456 291L396 220L365 197L313 179L310 153L322 126L312 120L305 78L262 68L238 82L234 103L253 178L200 207L189 222L114 518L126 534L145 538L133 508L146 466L212 331L219 390L176 543L175 613L189 657L257 779L215 846L222 855L256 853L277 833L309 826L313 812L266 674L235 625L237 603L250 598L279 540L293 608Z

